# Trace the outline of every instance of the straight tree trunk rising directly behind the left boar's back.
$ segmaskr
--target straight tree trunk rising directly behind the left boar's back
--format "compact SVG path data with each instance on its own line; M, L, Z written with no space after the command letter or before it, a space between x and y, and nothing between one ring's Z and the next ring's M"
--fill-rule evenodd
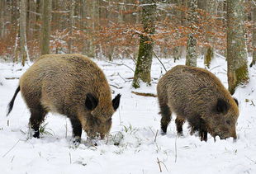
M50 14L51 0L44 0L41 54L50 54Z

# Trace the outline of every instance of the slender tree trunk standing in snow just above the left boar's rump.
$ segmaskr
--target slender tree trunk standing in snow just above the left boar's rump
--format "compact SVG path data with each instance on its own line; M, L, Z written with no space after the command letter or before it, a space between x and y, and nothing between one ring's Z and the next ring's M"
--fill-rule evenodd
M24 66L26 59L28 59L26 45L26 0L20 1L20 48L21 64Z

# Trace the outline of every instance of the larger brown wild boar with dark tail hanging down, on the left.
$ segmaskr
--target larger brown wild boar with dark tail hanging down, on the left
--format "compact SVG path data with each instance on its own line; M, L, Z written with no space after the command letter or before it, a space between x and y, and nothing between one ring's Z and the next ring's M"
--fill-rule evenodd
M111 89L104 73L81 54L41 56L21 76L7 115L20 90L31 111L33 137L39 138L40 124L51 111L69 118L75 142L80 142L82 128L89 138L100 135L103 139L111 129L111 116L121 97L118 94L111 101Z

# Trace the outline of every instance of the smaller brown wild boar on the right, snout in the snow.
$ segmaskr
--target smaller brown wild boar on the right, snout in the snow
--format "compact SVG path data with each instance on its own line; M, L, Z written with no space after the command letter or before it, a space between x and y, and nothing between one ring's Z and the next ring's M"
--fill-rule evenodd
M191 134L198 131L201 140L207 140L207 133L214 138L218 135L220 139L236 139L238 102L206 69L178 65L160 78L157 92L163 134L174 112L178 135L183 135L187 120Z

